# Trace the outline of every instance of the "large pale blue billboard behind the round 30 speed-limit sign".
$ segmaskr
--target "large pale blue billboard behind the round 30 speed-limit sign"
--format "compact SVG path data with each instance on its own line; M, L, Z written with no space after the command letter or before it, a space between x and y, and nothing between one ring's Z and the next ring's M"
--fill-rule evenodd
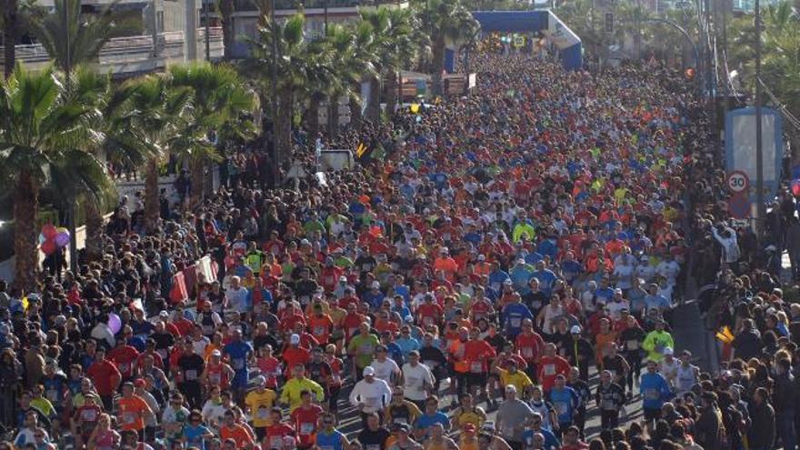
M766 201L775 197L780 184L784 140L781 115L770 108L761 111ZM735 109L725 115L725 169L728 174L740 171L747 175L750 185L746 192L755 200L755 108Z

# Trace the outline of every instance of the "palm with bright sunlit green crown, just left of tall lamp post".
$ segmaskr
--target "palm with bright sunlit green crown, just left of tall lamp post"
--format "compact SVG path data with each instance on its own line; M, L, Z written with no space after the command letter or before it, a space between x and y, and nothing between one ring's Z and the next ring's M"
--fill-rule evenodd
M225 127L226 134L252 136L255 125L247 119L254 113L255 93L229 65L198 62L173 65L170 83L192 93L190 114L180 135L170 142L170 152L189 164L192 173L192 205L201 205L205 195L205 163L217 160L210 135Z

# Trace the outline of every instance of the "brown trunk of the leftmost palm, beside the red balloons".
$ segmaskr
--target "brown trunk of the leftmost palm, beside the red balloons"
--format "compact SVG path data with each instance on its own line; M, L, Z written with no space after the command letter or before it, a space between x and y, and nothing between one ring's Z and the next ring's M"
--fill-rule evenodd
M39 186L27 171L19 175L14 190L14 283L25 292L35 287L39 272L39 250L36 247L36 215L39 211Z

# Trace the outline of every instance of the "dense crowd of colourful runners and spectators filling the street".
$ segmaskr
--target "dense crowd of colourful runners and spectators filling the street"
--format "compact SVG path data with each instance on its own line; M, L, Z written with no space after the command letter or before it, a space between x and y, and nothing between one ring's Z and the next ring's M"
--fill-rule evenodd
M337 138L385 159L299 191L232 172L157 233L117 211L79 274L0 284L0 450L794 448L800 308L725 225L692 86L473 66L474 93ZM714 374L670 334L690 257L735 335Z

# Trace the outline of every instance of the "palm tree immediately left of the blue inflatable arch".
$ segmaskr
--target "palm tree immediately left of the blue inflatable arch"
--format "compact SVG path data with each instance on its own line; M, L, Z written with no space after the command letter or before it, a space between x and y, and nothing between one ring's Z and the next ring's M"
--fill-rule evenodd
M457 46L475 35L475 30L480 25L460 0L428 0L423 11L423 25L429 30L433 43L433 93L439 95L443 89L442 73L445 70L445 48L448 41Z

